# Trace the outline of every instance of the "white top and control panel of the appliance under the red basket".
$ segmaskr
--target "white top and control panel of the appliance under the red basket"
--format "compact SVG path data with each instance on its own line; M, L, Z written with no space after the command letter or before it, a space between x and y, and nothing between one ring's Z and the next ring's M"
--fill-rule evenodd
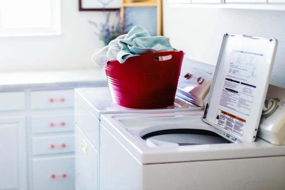
M175 110L204 110L203 99L210 90L212 75L215 66L185 58L181 69L178 88L181 88L175 97L174 105L159 109L134 109L120 106L113 102L110 89L104 88L77 88L75 97L100 120L101 114L130 113L130 112L169 112ZM185 78L185 73L191 76ZM200 84L197 79L200 77ZM201 79L202 78L202 79ZM191 88L191 90L190 90ZM184 89L184 90L183 90ZM187 94L188 96L181 95ZM192 101L194 100L194 101ZM194 102L194 103L192 103ZM202 103L199 103L202 102ZM196 105L197 104L197 105ZM199 106L200 105L200 106ZM202 106L202 107L201 107Z

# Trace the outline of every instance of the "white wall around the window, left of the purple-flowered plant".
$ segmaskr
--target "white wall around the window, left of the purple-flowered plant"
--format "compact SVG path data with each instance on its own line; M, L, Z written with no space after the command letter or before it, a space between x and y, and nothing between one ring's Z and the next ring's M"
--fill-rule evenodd
M0 37L0 72L96 67L91 56L104 45L88 20L100 23L103 12L78 11L78 0L60 1L62 35Z

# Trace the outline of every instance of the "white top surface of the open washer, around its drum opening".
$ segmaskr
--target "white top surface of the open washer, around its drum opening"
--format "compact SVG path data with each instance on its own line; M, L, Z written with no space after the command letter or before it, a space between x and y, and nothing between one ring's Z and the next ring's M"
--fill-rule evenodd
M172 142L166 140L167 138L151 139L151 141L141 138L145 134L166 129L200 129L218 133L222 137L227 136L226 133L221 133L202 121L202 113L202 111L186 111L108 114L102 115L101 123L143 164L285 156L285 146L276 146L260 138L252 143L216 144L219 142L213 141L214 144L209 144L210 140L204 140L200 142L201 145L179 145L185 143L181 141L182 137ZM202 136L194 137L196 138L194 143L199 143ZM102 138L104 137L101 136Z

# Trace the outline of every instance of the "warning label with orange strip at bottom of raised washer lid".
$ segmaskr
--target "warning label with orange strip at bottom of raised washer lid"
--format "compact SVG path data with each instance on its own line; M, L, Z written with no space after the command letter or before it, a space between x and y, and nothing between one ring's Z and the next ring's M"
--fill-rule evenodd
M218 110L215 124L242 137L246 120L223 110Z

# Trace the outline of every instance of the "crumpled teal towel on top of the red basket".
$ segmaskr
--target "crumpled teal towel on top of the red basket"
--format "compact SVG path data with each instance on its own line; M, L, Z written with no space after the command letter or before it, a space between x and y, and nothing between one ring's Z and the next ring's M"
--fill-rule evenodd
M134 56L175 50L166 37L151 36L147 30L139 26L134 26L118 43L121 51L117 53L116 58L120 63Z

